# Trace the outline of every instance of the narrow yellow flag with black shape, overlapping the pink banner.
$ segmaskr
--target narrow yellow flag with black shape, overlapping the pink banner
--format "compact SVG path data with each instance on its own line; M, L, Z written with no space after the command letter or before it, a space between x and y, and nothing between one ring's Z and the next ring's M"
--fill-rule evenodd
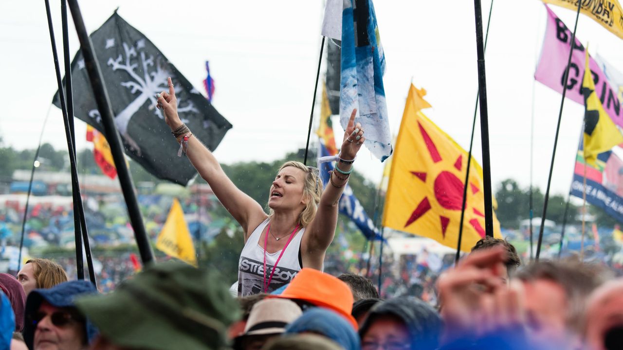
M586 50L586 67L584 72L589 70L588 50ZM623 135L612 119L599 102L595 94L595 85L590 73L584 74L582 82L582 93L584 95L584 159L586 163L595 164L597 154L609 151L619 143L623 143Z

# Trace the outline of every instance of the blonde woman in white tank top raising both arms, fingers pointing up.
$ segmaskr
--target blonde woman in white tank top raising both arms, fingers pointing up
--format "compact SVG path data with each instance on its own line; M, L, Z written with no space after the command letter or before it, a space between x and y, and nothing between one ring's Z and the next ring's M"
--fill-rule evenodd
M283 164L269 189L269 214L227 177L209 149L180 120L171 78L169 91L158 93L157 108L199 175L244 231L237 294L270 293L289 283L303 267L322 270L326 249L338 222L338 201L366 140L353 110L330 184L322 188L318 170L303 163ZM235 284L234 284L235 286Z

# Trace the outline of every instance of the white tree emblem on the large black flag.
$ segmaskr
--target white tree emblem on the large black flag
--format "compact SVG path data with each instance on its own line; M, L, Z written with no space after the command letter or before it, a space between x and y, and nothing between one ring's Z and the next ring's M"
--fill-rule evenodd
M137 47L142 49L145 45L141 45L140 41L141 40L137 42ZM143 50L137 54L136 48L133 45L130 46L123 42L123 50L125 52L125 60L123 55L118 55L117 59L110 57L107 65L110 66L112 70L123 70L128 73L131 80L121 82L120 85L130 89L130 93L133 95L136 93L139 94L136 95L135 99L123 108L120 113L115 115L115 125L130 148L137 154L140 154L140 147L128 134L128 124L130 123L132 116L135 115L135 113L140 110L146 102L150 103L150 111L153 110L153 113L158 116L158 118L164 119L162 112L158 110L158 108L155 108L157 103L156 93L169 90L166 82L167 78L171 77L171 72L166 69L166 63L162 62L161 59L154 60L153 55L149 55L149 57L147 57L145 51ZM143 68L142 77L135 72L139 64ZM178 84L176 86L176 95L178 95L182 90L181 84ZM188 101L185 106L181 106L181 102L182 98L179 98L178 95L178 113L182 116L182 121L186 123L188 121L183 118L183 113L190 111L199 113L199 110L195 108L193 102L191 101ZM92 113L89 114L92 115Z

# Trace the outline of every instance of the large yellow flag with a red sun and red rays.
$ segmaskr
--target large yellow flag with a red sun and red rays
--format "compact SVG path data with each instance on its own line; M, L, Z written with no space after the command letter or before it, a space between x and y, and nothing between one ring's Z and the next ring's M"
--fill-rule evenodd
M383 226L456 248L468 153L422 113L411 85L392 156ZM485 236L482 168L472 158L461 250ZM493 214L493 234L500 222Z

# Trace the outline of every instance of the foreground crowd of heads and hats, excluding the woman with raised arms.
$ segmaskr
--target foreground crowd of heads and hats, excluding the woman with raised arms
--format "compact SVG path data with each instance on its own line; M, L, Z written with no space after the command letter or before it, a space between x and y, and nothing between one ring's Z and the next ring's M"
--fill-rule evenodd
M354 273L302 268L241 295L214 269L149 265L108 294L51 260L0 274L0 349L620 349L623 280L578 258L520 266L485 237L435 281L436 305ZM237 289L237 288L236 288Z

